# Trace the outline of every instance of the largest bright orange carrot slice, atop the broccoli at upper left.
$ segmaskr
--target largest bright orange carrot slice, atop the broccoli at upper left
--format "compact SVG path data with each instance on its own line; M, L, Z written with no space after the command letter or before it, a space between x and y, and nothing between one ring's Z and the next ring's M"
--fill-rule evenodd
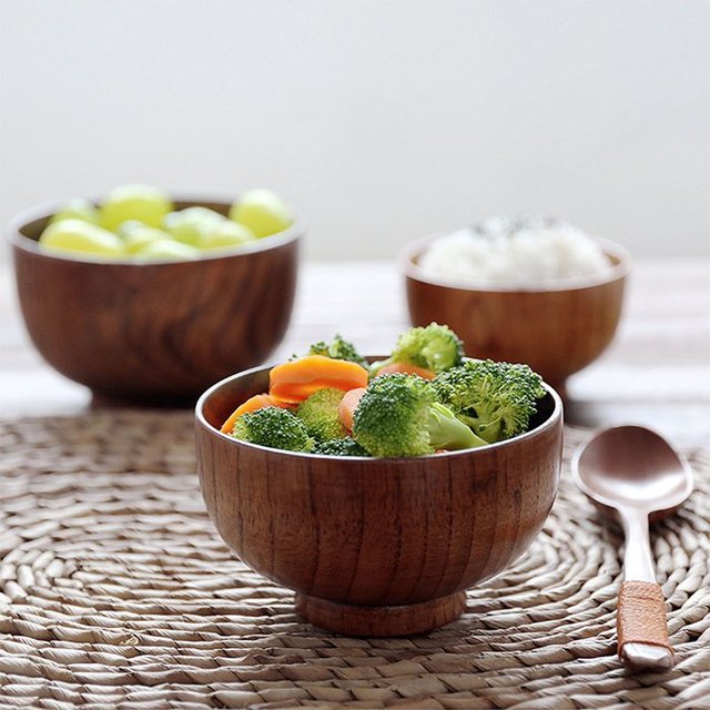
M368 373L357 363L306 355L273 367L268 375L268 394L284 402L303 402L317 389L335 387L347 392L367 386Z

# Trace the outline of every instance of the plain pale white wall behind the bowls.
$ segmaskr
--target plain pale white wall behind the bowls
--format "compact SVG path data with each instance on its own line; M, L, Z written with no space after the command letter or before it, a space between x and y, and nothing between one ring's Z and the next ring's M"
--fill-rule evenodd
M0 217L282 192L314 258L495 213L710 253L710 3L0 0Z

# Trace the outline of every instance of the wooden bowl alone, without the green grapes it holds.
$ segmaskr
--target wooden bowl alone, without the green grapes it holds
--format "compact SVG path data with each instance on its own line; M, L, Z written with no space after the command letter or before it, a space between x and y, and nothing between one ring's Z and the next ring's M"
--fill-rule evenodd
M180 201L226 214L226 202ZM37 240L59 205L24 213L10 242L20 307L37 349L94 394L194 404L214 382L281 342L296 286L296 221L239 253L136 264L62 257Z

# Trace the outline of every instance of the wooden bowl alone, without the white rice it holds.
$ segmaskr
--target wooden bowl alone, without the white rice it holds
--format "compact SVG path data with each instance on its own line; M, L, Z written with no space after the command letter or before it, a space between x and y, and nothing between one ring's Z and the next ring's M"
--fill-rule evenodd
M429 241L415 244L400 257L412 323L446 323L469 357L527 363L564 390L569 375L611 343L621 316L629 255L611 242L599 242L611 263L607 273L539 288L445 280L417 264Z

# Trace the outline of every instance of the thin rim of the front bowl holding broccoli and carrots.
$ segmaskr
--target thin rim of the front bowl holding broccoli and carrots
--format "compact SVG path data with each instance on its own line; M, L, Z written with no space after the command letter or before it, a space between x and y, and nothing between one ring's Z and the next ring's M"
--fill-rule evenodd
M382 358L382 356L375 356L375 358L377 357ZM475 358L465 357L464 359L475 359ZM242 442L240 439L235 439L229 434L224 434L223 432L220 432L220 429L215 428L207 422L206 417L204 416L204 405L207 402L207 399L212 395L214 395L215 392L217 392L219 389L222 389L223 387L227 386L229 384L233 383L236 379L242 379L251 375L254 375L256 373L267 372L272 367L274 367L274 365L257 365L256 367L250 367L248 369L244 369L242 372L235 373L233 375L230 375L229 377L224 377L223 379L220 379L219 382L214 383L212 386L210 386L200 395L195 404L195 407L194 407L195 422L210 435L217 436L226 442L231 442L234 446L237 446L237 447L246 447L246 448L255 449L258 452L263 452L265 454L276 454L280 456L293 456L296 458L305 457L307 459L331 460L331 462L332 460L358 462L365 466L374 466L374 465L381 464L382 462L412 463L412 462L419 462L419 460L430 460L433 458L436 458L438 460L443 457L450 458L450 457L459 457L459 456L473 456L473 455L476 455L476 453L490 452L490 450L508 447L514 445L517 442L521 442L525 439L539 436L547 429L555 427L557 425L558 419L560 420L562 419L562 409L564 409L562 398L555 390L554 387L548 385L546 382L542 382L542 386L545 387L546 393L552 399L554 407L549 417L545 419L545 422L542 422L539 426L536 426L534 429L530 429L529 432L515 436L510 439L496 442L495 444L487 444L486 446L479 446L476 448L466 448L457 452L445 452L443 454L425 454L423 456L407 456L407 457L367 457L367 456L328 456L327 454L306 454L303 452L288 452L286 449L271 448L268 446L261 446L260 444L251 444L250 442Z

